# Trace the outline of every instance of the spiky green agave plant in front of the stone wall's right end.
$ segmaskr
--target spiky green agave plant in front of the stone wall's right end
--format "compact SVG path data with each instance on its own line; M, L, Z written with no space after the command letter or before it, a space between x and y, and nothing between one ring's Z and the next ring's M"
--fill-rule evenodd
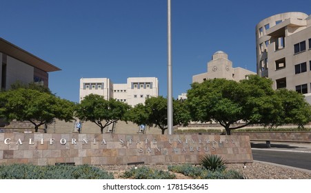
M225 160L219 155L215 154L205 154L201 160L200 164L207 170L225 170Z

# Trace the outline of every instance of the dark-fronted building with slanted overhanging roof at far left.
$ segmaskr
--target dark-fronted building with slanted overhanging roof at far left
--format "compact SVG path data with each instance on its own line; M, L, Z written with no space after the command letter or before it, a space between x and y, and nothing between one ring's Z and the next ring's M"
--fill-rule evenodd
M48 87L48 72L61 70L2 38L0 65L1 90L9 89L17 81L36 82Z

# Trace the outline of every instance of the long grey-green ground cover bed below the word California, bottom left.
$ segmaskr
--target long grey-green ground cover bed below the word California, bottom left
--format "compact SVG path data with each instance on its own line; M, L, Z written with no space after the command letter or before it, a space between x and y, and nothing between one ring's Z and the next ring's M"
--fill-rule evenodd
M91 165L0 165L0 179L114 179L112 173Z

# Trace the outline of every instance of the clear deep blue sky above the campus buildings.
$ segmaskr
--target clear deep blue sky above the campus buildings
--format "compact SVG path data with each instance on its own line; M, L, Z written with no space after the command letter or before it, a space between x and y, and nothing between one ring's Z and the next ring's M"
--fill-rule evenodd
M0 37L61 68L49 86L79 101L79 79L157 77L167 96L167 0L2 1ZM172 0L173 96L190 89L223 50L256 72L255 26L282 12L311 14L311 1Z

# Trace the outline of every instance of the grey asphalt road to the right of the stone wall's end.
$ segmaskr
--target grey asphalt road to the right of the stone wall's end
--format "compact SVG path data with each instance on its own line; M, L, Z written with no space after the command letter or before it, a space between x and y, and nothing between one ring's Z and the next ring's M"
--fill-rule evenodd
M252 149L252 156L256 161L265 161L311 170L311 152Z

